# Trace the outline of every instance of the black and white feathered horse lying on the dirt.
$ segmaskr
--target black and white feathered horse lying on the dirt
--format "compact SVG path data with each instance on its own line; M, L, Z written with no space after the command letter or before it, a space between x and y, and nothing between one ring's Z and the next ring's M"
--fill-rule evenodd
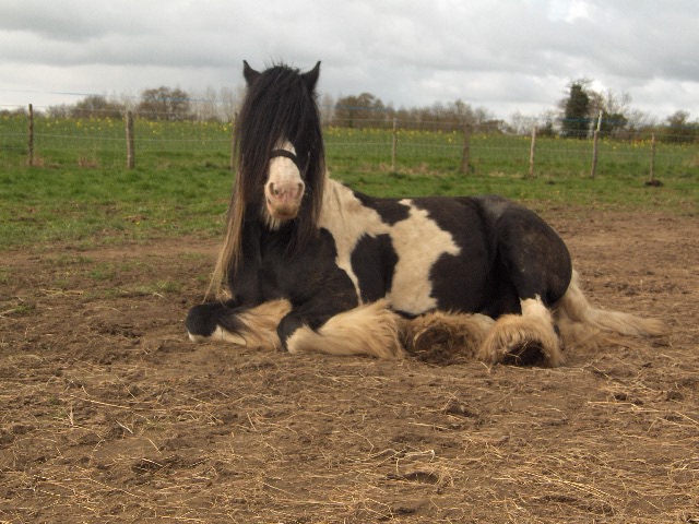
M446 344L555 367L591 333L664 333L593 308L562 239L513 201L374 198L332 180L319 73L320 62L260 72L244 61L226 235L208 299L186 319L192 341L379 358Z

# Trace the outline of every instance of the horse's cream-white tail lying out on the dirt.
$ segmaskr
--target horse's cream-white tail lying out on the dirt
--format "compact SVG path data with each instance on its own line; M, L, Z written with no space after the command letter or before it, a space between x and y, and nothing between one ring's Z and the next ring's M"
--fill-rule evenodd
M554 318L566 346L596 345L609 334L661 336L667 332L665 323L656 319L594 308L580 289L574 271L568 290L554 307Z

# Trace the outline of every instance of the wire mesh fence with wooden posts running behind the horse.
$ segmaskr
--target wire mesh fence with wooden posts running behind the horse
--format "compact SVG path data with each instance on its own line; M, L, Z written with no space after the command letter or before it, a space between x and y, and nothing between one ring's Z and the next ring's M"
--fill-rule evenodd
M650 133L625 139L601 133L594 140L556 135L517 135L491 128L435 122L371 120L353 127L325 126L328 165L366 170L454 171L464 175L533 177L699 176L696 138ZM105 115L62 118L25 112L0 116L0 167L67 166L126 168L126 118ZM135 165L196 162L232 165L230 122L133 119ZM679 140L682 139L682 140ZM593 153L596 152L595 169Z

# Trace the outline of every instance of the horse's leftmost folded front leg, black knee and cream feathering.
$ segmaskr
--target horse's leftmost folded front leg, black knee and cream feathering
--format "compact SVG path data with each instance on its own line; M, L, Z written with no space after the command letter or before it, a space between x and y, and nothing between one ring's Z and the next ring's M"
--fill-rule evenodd
M247 347L280 349L281 320L291 311L288 300L262 302L250 308L234 301L194 306L185 325L192 342L223 341Z

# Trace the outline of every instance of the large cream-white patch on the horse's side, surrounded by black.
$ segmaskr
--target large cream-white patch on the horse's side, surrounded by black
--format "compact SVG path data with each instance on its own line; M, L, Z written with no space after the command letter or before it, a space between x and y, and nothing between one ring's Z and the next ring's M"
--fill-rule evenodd
M398 264L387 298L394 309L419 314L437 307L429 279L435 262L442 254L457 255L461 249L450 233L429 218L426 210L416 207L407 199L400 203L410 207L410 216L391 227Z

